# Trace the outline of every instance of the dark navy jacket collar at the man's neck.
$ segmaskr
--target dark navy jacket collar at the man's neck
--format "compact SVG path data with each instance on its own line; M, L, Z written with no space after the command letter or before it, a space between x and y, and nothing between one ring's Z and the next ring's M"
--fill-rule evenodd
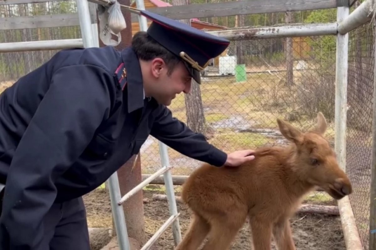
M144 84L138 57L132 48L121 52L127 73L127 102L128 112L144 106Z

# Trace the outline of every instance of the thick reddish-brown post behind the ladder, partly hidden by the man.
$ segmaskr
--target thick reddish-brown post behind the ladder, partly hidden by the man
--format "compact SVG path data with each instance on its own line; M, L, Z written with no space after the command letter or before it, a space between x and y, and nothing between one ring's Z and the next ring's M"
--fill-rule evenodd
M130 0L118 0L121 5L130 6ZM126 29L121 31L121 42L115 48L122 50L129 47L132 42L132 23L129 11L121 9L127 24ZM104 44L99 41L100 47ZM141 156L140 154L133 155L123 166L117 171L120 193L123 197L133 187L137 186L142 181L141 176ZM145 221L144 221L144 203L142 191L133 195L129 200L123 203L124 217L127 224L128 236L137 241L138 244L143 245L146 243L145 235ZM114 225L113 225L114 228ZM113 234L115 230L112 230Z

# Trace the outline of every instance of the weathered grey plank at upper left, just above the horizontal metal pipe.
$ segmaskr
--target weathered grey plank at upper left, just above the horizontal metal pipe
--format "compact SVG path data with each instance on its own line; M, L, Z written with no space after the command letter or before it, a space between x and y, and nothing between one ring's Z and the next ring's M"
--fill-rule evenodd
M0 30L79 26L78 14L0 18Z

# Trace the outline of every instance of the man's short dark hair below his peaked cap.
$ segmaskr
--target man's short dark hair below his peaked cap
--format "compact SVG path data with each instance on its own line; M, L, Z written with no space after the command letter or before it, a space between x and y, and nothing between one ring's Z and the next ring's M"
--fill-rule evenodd
M145 31L137 32L132 38L132 49L139 59L149 61L156 57L162 58L167 64L168 75L181 61L176 55L165 49L161 44L151 38Z

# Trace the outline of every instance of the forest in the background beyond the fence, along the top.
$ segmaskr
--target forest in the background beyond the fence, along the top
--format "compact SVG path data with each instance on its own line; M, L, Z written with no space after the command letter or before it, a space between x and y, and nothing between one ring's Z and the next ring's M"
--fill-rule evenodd
M210 0L192 0L191 4L211 3ZM224 1L223 1L224 2ZM173 4L173 1L169 1ZM75 1L45 2L20 5L1 5L0 18L23 17L50 14L74 14L77 13ZM286 23L286 14L267 13L254 15L237 15L229 17L211 17L199 18L201 21L219 24L228 28L234 27L265 27L276 26ZM289 23L325 23L336 20L336 9L324 9L318 11L296 11L291 13ZM0 30L0 43L21 42L21 41L40 41L80 38L80 29L78 26L73 27L54 27L38 29L17 29L17 30ZM323 40L324 39L324 40ZM325 41L327 40L327 41ZM327 36L320 38L319 42L309 41L314 53L328 55L327 52L334 51L335 37ZM243 47L245 54L250 54L262 59L271 60L274 58L282 61L284 58L283 39L274 40L268 48L263 46L260 49L258 41L249 41ZM256 47L256 48L255 48ZM262 47L262 46L261 46ZM247 49L248 48L248 49ZM37 51L37 52L11 52L0 53L0 81L12 81L24 74L36 69L42 63L50 59L56 51ZM238 51L239 53L239 51ZM254 61L253 58L251 61Z

